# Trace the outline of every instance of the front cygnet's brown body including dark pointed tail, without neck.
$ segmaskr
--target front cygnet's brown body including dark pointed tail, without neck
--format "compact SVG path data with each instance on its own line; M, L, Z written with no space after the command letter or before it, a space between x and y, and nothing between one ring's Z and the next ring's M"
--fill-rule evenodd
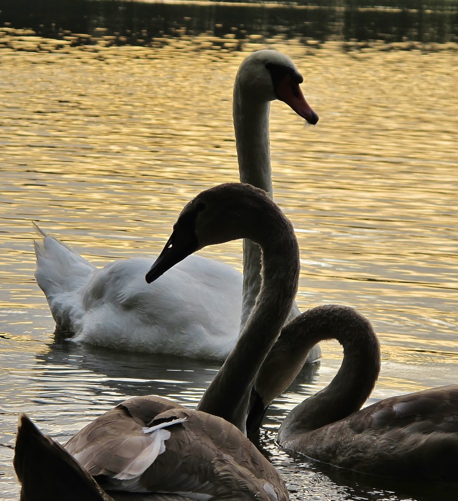
M14 467L22 501L288 498L274 467L235 426L160 397L120 403L65 447L22 415Z

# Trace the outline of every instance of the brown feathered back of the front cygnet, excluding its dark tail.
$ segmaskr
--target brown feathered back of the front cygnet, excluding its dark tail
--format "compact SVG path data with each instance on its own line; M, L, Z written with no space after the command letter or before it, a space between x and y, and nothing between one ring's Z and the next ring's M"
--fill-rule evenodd
M159 397L122 402L65 449L108 491L163 491L197 499L233 492L240 500L260 492L266 501L274 492L273 499L287 499L273 466L235 426Z

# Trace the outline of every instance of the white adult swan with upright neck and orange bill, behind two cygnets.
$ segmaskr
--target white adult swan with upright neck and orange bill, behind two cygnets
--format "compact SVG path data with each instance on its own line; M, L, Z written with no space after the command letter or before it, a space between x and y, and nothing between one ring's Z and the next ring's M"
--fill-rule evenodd
M240 178L272 193L269 102L281 99L310 123L302 77L289 58L271 50L244 59L234 85L233 116ZM148 286L150 259L118 260L97 269L39 228L35 278L57 330L96 345L223 360L235 344L242 277L233 268L198 256ZM259 252L245 243L242 326L259 289ZM297 307L294 309L298 313ZM319 348L311 359L319 357Z

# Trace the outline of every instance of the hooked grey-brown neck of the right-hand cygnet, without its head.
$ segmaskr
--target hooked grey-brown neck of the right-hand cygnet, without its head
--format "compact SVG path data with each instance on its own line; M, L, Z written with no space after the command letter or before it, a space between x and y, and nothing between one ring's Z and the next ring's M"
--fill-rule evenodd
M307 316L308 314L308 316ZM343 347L343 360L326 388L306 398L284 418L278 441L302 436L343 419L359 410L372 391L380 371L380 346L370 323L348 307L324 305L290 322L281 332L292 339L302 357L317 342L336 339Z

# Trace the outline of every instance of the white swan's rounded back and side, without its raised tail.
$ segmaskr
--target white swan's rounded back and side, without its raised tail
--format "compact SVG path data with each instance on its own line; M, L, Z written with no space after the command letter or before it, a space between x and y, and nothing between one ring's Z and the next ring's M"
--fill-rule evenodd
M241 308L241 274L201 256L189 256L173 273L146 284L151 258L117 260L89 276L73 304L74 341L98 346L224 360L235 345ZM224 288L229 297L221 294ZM135 329L135 337L129 333Z

